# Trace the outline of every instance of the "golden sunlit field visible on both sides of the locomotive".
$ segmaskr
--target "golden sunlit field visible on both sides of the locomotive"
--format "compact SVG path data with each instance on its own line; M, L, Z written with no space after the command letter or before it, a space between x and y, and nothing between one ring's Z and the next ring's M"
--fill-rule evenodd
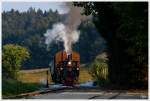
M25 83L46 84L48 69L22 70L19 73L19 80ZM92 80L87 68L80 68L79 83ZM50 72L48 72L48 83L53 83Z

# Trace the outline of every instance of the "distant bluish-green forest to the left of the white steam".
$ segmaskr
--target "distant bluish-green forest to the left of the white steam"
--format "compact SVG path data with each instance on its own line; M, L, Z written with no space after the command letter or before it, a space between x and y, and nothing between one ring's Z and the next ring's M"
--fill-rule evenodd
M35 10L27 12L15 10L2 13L2 44L18 44L27 47L31 58L24 62L24 67L45 67L50 61L49 51L44 44L44 33L52 24L59 21L57 11Z

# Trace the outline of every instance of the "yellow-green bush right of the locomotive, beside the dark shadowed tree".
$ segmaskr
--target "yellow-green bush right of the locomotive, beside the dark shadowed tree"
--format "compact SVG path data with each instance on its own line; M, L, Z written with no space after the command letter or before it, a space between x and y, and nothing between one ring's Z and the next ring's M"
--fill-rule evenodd
M108 64L105 62L99 62L95 60L91 64L91 69L89 71L93 79L100 86L104 86L108 83Z

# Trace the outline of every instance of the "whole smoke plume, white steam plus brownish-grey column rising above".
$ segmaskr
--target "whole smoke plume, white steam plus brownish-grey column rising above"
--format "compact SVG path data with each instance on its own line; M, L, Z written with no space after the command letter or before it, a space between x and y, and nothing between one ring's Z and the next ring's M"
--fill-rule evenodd
M65 7L69 9L66 20L54 24L52 29L48 29L44 36L46 37L45 43L48 46L52 42L63 42L65 51L70 54L72 45L78 41L80 36L80 31L77 30L77 27L87 17L81 15L83 8L74 7L71 2L65 3Z

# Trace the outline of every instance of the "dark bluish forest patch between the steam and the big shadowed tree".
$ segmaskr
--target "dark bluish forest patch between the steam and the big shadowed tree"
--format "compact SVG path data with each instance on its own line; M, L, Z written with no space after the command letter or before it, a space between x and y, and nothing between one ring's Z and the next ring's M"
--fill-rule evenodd
M106 41L98 33L91 21L82 22L79 30L81 33L80 39L74 45L73 50L80 53L81 64L90 63L106 48Z

